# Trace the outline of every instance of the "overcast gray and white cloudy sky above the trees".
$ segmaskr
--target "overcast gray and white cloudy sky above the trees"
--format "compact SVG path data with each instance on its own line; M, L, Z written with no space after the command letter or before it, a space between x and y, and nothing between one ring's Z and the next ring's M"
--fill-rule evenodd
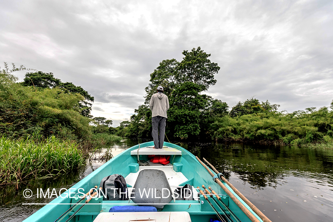
M206 93L229 107L255 96L292 112L333 99L331 0L0 2L0 66L83 87L113 126L144 103L159 62L198 46L221 67Z

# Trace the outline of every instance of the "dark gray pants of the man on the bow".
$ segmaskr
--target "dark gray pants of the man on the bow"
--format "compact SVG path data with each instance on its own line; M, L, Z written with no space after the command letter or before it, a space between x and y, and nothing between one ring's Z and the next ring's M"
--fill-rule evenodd
M166 117L162 116L154 116L152 117L152 136L154 138L155 149L162 149L164 142L164 133L166 131ZM159 128L160 128L160 136L159 136Z

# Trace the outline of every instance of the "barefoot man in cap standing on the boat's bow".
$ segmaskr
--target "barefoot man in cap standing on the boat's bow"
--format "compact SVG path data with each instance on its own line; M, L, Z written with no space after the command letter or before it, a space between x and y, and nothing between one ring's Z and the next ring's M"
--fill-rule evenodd
M163 92L162 86L157 87L157 93L152 96L149 104L149 109L152 111L152 136L154 138L155 149L163 148L166 131L166 111L169 109L169 99Z

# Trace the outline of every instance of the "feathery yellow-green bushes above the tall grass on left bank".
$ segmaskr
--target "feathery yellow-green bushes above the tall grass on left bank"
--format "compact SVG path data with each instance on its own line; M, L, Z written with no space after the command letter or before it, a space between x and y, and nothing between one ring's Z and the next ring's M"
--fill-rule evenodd
M82 99L59 88L35 91L17 83L0 87L0 132L13 138L36 133L47 137L66 127L77 138L87 137L90 119L80 115Z

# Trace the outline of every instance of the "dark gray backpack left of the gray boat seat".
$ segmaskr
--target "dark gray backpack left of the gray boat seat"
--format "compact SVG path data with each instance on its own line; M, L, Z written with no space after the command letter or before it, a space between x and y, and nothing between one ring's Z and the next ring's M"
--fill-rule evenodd
M112 174L104 177L100 187L102 187L103 200L128 200L127 184L122 175Z

